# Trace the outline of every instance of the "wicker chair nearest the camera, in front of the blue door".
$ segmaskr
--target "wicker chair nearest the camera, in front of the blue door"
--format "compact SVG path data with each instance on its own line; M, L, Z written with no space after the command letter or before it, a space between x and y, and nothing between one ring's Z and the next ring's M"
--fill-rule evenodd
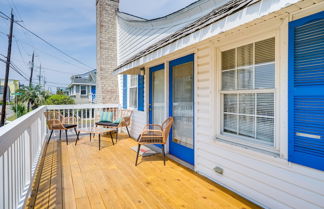
M162 145L162 153L163 153L163 163L165 165L165 147L164 145L167 142L169 137L169 133L173 124L173 117L169 117L166 119L162 125L157 124L147 124L145 125L142 133L139 135L138 149L136 155L135 166L137 166L138 155L141 149L141 145L143 144L161 144Z

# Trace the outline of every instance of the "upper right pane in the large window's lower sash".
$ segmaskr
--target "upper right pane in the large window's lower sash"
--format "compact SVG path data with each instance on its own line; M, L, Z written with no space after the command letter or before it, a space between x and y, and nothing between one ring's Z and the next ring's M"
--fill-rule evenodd
M257 115L274 116L274 94L257 94Z

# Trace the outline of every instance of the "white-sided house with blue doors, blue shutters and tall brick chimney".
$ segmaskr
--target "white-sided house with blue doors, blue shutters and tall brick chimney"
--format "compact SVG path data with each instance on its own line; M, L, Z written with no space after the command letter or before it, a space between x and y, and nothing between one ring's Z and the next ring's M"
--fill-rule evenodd
M323 208L323 9L201 0L145 20L97 0L98 103L133 109L134 138L174 117L170 156L260 206Z

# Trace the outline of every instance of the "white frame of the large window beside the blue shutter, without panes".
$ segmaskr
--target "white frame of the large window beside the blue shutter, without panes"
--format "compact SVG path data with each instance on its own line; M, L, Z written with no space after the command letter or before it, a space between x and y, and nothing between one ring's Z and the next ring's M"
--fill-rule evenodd
M223 94L226 92L233 92L233 91L222 91L222 66L221 66L221 53L226 50L230 50L233 48L237 48L240 46L244 46L247 44L255 43L258 41L266 40L268 38L275 38L275 87L274 89L255 89L255 90L235 90L237 93L274 93L274 142L272 145L269 145L267 143L264 143L262 141L258 142L253 139L249 139L249 137L234 135L234 134L226 134L222 133L223 130L223 122L224 122L224 114L223 114ZM236 144L242 147L246 148L252 148L257 149L265 152L270 152L274 154L279 154L280 150L280 140L279 140L279 121L280 121L280 91L279 91L279 32L278 31L272 31L267 33L262 33L255 36L250 36L244 40L232 40L231 42L227 42L227 44L219 45L216 48L216 138L219 141L230 143L230 144ZM253 52L254 57L254 52Z

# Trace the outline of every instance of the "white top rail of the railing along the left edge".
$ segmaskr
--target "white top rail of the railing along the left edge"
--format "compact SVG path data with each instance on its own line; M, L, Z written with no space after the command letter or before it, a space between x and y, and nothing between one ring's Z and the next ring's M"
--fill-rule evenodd
M45 110L46 107L41 106L0 128L0 156L6 152L21 133L30 127L31 123L43 115Z

